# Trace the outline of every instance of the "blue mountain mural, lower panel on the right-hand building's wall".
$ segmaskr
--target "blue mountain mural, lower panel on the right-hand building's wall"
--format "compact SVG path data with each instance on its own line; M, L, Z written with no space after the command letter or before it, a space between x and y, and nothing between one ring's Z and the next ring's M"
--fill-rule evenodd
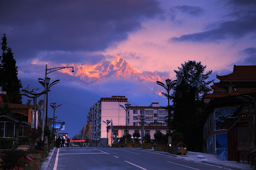
M215 135L216 139L216 155L222 160L228 160L228 134Z

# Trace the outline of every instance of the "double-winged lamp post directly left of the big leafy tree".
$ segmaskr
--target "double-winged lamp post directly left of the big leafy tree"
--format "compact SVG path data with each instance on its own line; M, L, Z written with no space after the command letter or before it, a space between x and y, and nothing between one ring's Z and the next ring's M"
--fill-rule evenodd
M165 80L166 85L164 83L162 83L162 82L156 81L156 84L158 84L158 85L160 85L160 86L162 86L162 87L164 87L166 89L167 95L168 95L167 98L168 98L168 127L169 127L169 136L171 136L171 125L170 125L170 117L171 116L170 116L170 96L169 96L169 93L170 93L170 90L173 88L173 86L178 83L177 80L174 80L172 82L171 81L172 80L170 80L170 79L166 79Z

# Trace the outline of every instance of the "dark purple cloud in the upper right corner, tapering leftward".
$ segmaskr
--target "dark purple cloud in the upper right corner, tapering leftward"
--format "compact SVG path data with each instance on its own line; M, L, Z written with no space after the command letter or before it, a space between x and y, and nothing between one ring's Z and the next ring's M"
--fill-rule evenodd
M169 42L214 42L228 38L241 38L248 33L256 32L256 1L227 1L228 19L219 21L217 25L209 24L206 31L172 37ZM231 19L232 18L232 19ZM212 26L215 25L214 28Z

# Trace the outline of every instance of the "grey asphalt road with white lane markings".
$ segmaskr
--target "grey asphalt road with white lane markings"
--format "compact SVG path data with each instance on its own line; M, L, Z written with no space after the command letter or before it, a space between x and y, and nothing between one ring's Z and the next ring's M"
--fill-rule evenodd
M229 168L199 163L173 156L131 148L59 148L49 170L226 170Z

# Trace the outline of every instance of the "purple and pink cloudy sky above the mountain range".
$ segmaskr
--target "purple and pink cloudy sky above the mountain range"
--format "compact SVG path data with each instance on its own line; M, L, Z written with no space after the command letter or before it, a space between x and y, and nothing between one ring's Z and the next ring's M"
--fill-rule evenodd
M255 0L16 0L0 6L1 37L6 34L24 87L40 87L37 79L49 62L95 64L116 55L134 69L166 72L172 79L188 60L212 70L211 79L231 73L234 65L256 65ZM49 100L68 101L80 109L73 111L77 117L103 97L90 91L93 100L85 106L76 96L84 87L59 84L52 88L62 92Z

